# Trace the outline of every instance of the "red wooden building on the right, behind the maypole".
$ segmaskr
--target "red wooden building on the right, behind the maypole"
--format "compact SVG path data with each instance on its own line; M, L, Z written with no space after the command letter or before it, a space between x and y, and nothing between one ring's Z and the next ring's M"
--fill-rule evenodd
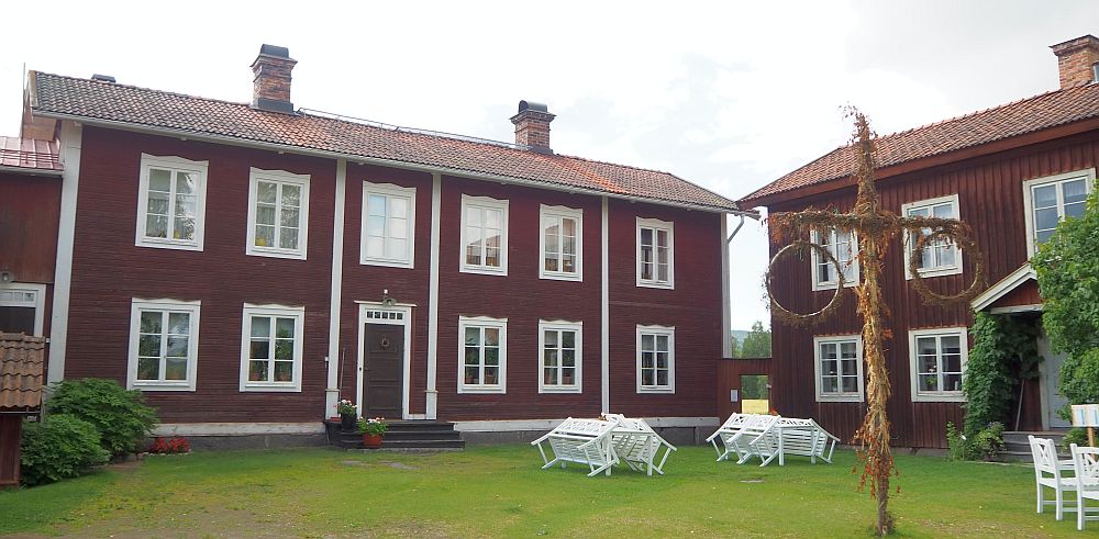
M946 423L961 424L964 417L961 383L974 310L1033 313L1032 322L1039 323L1041 299L1028 260L1058 220L1083 212L1095 188L1099 40L1088 35L1052 48L1061 67L1058 90L877 139L882 206L901 215L969 223L995 283L972 305L924 304L906 273L904 238L893 240L882 278L892 311L886 359L898 446L946 447ZM739 203L768 212L848 211L855 200L853 156L850 146L839 148ZM848 282L857 280L857 245L850 237L833 232L812 239L844 262ZM773 243L771 254L780 247ZM921 272L936 292L954 293L972 281L969 262L964 251L936 244L926 249ZM815 311L835 292L835 271L810 254L786 259L776 268L775 294L796 312ZM785 415L814 417L846 439L865 414L862 324L854 303L810 328L773 324L773 405ZM1056 391L1061 358L1044 338L1039 346L1045 352L1042 378L1024 388L1021 413L1009 429L1065 426L1055 413L1064 404Z

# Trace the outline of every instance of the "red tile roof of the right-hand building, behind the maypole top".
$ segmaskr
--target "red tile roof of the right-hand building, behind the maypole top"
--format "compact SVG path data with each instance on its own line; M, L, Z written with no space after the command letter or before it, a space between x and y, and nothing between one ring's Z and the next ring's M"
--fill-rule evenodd
M899 165L1094 117L1099 117L1099 85L1056 90L878 137L877 165ZM753 207L753 201L757 199L851 176L854 166L854 149L852 146L843 146L764 186L739 202L743 207Z

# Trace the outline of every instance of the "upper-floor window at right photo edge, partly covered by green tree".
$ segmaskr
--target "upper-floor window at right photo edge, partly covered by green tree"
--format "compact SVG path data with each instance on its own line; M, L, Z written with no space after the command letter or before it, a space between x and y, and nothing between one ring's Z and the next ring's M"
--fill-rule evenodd
M1037 251L1037 244L1053 235L1057 223L1084 215L1095 181L1096 169L1089 168L1023 182L1026 247L1030 252Z

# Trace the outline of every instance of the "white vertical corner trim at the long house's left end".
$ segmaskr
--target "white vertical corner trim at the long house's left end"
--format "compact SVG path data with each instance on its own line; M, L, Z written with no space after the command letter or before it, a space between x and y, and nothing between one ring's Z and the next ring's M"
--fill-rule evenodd
M73 246L76 240L76 201L80 183L79 124L63 121L60 133L60 217L57 226L57 261L54 267L54 304L49 315L49 360L46 382L65 379L65 346L68 341L69 297L73 293Z

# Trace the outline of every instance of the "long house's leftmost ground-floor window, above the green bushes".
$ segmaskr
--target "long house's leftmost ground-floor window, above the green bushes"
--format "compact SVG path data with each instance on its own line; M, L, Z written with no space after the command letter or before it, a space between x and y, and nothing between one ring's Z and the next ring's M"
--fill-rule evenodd
M200 302L133 300L127 386L195 391Z

